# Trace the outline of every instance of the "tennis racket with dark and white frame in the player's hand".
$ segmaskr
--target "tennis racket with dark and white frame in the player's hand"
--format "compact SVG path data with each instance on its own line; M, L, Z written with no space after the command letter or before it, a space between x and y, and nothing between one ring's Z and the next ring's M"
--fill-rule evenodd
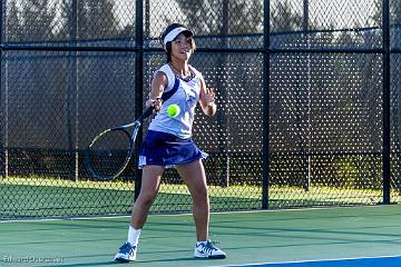
M133 156L139 128L153 110L154 107L149 107L136 121L104 130L92 139L86 149L85 162L94 178L113 180L124 171Z

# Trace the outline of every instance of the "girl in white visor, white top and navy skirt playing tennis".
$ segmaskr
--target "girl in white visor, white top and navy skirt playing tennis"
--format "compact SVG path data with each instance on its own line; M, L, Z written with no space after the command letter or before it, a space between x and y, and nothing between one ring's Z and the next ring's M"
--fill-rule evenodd
M146 106L158 111L149 125L139 152L143 168L141 188L135 201L128 240L119 248L115 260L128 263L136 259L138 239L149 208L159 189L166 168L176 168L193 198L193 216L196 227L196 258L225 258L226 254L208 240L209 200L202 159L207 157L192 139L195 107L200 103L207 116L216 112L215 93L206 88L203 76L188 63L196 44L193 31L173 23L162 34L167 63L154 75L151 91ZM178 105L176 117L167 113L167 107Z

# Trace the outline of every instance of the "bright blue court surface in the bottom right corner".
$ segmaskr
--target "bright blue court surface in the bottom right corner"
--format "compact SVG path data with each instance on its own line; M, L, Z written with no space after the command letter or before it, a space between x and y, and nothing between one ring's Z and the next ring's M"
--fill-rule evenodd
M400 267L401 255L383 256L372 258L348 258L330 260L306 260L306 261L287 261L287 263L263 263L252 265L228 265L226 267Z

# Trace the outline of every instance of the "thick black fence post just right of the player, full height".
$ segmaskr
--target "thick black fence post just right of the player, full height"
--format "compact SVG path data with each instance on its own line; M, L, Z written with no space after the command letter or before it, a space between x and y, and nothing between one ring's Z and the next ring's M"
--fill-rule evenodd
M263 145L262 145L262 209L268 208L270 156L268 156L268 120L270 120L270 0L263 1Z

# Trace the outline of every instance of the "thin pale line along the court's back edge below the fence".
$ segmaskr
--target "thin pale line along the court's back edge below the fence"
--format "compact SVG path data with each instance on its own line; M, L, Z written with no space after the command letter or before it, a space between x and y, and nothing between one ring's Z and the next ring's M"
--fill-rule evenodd
M281 212L281 211L305 211L305 210L330 210L342 208L379 208L394 205L361 205L361 206L332 206L332 207L303 207L303 208L284 208L284 209L255 209L255 210L229 210L229 211L212 211L211 215L218 214L258 214L258 212ZM167 212L167 214L149 214L151 217L158 216L192 216L192 212ZM23 222L23 221L51 221L51 220L90 220L90 219L115 219L115 218L129 218L129 214L110 214L110 215L87 215L87 216L56 216L56 217L26 217L17 219L2 219L0 224L6 222Z

